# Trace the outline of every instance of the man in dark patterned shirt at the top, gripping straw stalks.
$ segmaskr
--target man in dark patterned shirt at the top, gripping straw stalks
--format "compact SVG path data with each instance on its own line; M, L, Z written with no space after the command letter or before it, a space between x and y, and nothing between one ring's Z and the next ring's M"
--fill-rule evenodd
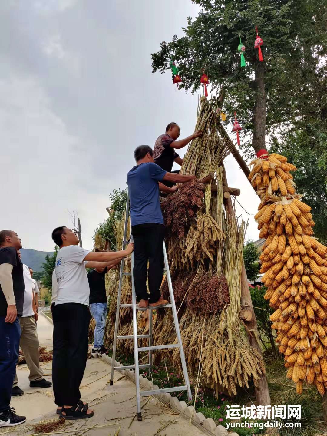
M176 123L169 123L166 127L166 133L160 135L154 144L153 159L154 163L159 165L168 173L179 173L179 170L172 171L174 162L182 165L183 159L176 153L175 150L185 147L191 140L202 136L202 130L197 130L191 136L177 141L180 135L180 128ZM166 186L172 187L174 183L164 181Z

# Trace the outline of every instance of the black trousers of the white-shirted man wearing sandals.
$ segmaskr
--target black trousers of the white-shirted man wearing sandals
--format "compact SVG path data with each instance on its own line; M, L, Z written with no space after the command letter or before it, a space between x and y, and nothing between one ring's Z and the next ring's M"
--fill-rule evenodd
M75 405L89 347L89 306L79 303L52 304L52 383L57 405Z

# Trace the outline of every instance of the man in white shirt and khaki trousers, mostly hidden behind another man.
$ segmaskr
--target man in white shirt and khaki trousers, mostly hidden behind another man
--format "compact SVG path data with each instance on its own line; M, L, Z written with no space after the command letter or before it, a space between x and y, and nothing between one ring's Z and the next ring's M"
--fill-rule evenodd
M20 251L17 251L19 258ZM39 339L36 331L37 311L34 303L33 282L30 270L27 265L23 263L23 276L24 276L24 306L23 315L19 318L21 336L20 348L23 351L27 367L30 370L28 377L31 388L49 388L52 383L43 378L43 371L40 368L40 354L39 354ZM17 373L14 378L14 384L11 396L15 397L23 395L24 391L18 386Z

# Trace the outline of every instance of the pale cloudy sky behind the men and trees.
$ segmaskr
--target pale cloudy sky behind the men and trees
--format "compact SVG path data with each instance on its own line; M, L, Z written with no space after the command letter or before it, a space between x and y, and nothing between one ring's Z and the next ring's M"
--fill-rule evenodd
M150 54L197 14L188 0L0 2L0 228L24 248L52 250L52 229L70 226L75 209L92 249L135 147L153 146L171 121L181 137L193 133L198 97L176 91L170 74L151 74ZM232 157L226 168L255 214L259 200ZM253 216L241 213L257 239Z

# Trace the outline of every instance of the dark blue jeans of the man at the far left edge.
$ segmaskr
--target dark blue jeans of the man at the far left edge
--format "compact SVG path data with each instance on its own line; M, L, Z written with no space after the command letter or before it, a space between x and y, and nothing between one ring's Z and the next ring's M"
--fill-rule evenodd
M19 319L10 324L4 322L5 318L0 317L0 412L10 406L20 341Z

